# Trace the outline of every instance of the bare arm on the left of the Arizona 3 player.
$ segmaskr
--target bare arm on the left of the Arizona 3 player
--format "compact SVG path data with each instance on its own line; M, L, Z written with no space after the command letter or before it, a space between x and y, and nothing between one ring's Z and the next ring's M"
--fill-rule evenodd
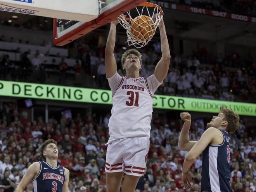
M40 163L35 162L28 167L25 175L22 177L19 185L16 187L15 192L23 192L25 187L27 187L28 183L31 182L33 178L35 178L40 171Z

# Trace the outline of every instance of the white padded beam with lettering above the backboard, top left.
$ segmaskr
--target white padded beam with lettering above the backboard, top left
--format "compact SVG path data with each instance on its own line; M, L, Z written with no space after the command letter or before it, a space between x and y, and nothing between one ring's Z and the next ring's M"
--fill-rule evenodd
M0 0L0 10L34 16L91 21L99 16L99 1Z

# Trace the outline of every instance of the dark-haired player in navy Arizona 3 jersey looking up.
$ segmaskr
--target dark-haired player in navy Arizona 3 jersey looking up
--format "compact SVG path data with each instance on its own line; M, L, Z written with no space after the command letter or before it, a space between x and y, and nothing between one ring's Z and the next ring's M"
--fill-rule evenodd
M46 140L40 147L40 155L44 161L31 164L19 182L16 192L23 192L32 180L33 192L68 192L69 170L57 164L57 142Z

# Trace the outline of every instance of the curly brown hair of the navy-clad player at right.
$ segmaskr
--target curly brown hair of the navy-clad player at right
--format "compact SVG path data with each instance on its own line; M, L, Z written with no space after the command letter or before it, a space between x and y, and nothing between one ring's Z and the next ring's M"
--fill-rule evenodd
M235 133L236 130L240 129L240 118L236 112L234 112L232 109L228 109L227 107L220 107L220 112L225 115L225 118L223 120L228 122L226 128L226 131L228 133Z

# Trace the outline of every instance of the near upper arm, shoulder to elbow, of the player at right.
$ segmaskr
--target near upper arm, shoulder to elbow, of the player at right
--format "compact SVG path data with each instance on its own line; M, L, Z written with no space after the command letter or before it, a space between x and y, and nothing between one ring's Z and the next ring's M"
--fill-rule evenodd
M213 141L217 133L217 129L210 127L204 131L201 138L196 142L196 144L192 147L189 153L186 156L187 161L194 160L197 156L199 156L202 151Z

